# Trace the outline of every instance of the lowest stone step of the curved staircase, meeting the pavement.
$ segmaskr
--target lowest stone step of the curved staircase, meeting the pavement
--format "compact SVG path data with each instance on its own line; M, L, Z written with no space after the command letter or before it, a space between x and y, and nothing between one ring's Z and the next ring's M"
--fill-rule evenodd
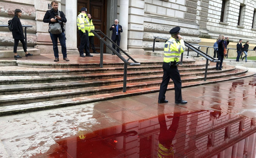
M228 81L231 79L239 79L244 77L249 77L254 75L253 72L246 72L244 74L239 74L234 77L223 77L218 79L208 79L207 81L193 81L193 82L186 82L182 83L182 87L188 87L188 86L197 86L201 84L209 84L219 81ZM168 89L174 89L173 84L168 85ZM95 102L95 101L101 101L106 99L117 99L120 97L127 97L132 95L139 95L139 94L145 94L145 93L152 93L159 91L159 86L154 86L150 88L144 88L144 89L133 89L133 90L127 90L126 93L123 93L122 91L107 93L107 94L96 94L96 95L90 95L90 96L80 96L80 97L74 97L69 99L57 99L52 101L41 101L41 102L33 102L33 103L27 103L27 104L15 104L12 106L0 106L0 115L7 115L7 114L15 114L20 112L26 112L26 111L37 111L37 110L43 110L43 109L51 109L51 108L57 108L62 106L72 106L77 104L85 104L89 102ZM156 99L157 102L157 99Z

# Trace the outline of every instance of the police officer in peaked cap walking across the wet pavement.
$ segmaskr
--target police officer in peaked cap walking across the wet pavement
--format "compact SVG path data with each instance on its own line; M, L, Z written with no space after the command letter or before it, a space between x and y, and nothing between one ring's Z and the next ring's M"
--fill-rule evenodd
M168 103L165 99L170 79L174 82L175 90L175 104L187 104L187 101L182 100L181 97L181 77L177 65L179 64L179 57L185 50L183 38L179 35L180 27L174 27L170 30L171 38L164 44L164 76L160 86L158 103Z

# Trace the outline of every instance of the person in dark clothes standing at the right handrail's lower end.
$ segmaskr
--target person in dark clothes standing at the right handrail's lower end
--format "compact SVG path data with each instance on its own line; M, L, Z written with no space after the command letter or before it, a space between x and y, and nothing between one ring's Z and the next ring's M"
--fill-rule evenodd
M229 37L226 37L227 41L226 44L225 42L225 37L224 35L219 35L218 38L218 60L220 60L221 62L217 62L216 63L216 70L222 70L222 62L224 59L224 48L226 48L227 45L229 45Z

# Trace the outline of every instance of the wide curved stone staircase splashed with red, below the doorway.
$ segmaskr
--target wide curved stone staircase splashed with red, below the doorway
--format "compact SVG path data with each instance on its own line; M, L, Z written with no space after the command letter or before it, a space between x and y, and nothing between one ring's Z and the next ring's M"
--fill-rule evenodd
M139 61L140 66L128 66L126 92L123 92L123 63L104 63L99 68L98 62L56 64L18 60L17 66L0 67L0 115L158 92L163 76L162 58L155 59L158 61ZM206 60L184 57L179 65L182 87L254 75L246 67L229 65L216 71L215 63L209 63L204 81L205 68ZM174 89L172 81L168 89Z

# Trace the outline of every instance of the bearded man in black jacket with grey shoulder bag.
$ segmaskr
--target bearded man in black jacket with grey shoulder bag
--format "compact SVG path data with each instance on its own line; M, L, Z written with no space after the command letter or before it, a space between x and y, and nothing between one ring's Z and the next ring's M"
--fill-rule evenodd
M63 22L67 22L67 19L65 17L65 14L62 11L58 10L57 0L53 0L51 4L52 4L52 9L46 11L43 22L49 23L49 25L50 23L53 24L56 22L60 22L60 25L62 27L62 32L60 34L52 34L51 32L49 32L52 39L52 44L53 44L53 52L55 56L54 61L55 62L59 61L58 38L61 45L63 60L70 61L70 59L67 59L66 37L65 37L65 33L64 33L65 30L63 25Z

